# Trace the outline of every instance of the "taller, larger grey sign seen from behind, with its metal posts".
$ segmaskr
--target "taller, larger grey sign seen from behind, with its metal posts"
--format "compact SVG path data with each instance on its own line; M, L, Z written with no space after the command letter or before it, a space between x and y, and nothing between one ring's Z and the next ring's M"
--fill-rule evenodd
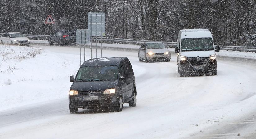
M92 58L92 36L96 37L96 58L97 58L97 37L101 37L102 57L102 36L105 36L105 13L88 13L88 29L90 30L90 47Z

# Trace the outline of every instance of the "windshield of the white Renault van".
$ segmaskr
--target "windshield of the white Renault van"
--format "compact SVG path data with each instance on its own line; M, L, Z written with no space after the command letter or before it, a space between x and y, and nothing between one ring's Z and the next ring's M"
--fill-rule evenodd
M210 51L213 49L212 38L181 39L181 51Z

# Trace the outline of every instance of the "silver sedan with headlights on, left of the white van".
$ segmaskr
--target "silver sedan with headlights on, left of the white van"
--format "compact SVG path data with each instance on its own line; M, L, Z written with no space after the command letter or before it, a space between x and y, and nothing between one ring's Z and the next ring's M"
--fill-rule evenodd
M171 61L168 48L170 47L166 47L162 42L146 42L139 49L139 61L145 60L146 63L157 60Z

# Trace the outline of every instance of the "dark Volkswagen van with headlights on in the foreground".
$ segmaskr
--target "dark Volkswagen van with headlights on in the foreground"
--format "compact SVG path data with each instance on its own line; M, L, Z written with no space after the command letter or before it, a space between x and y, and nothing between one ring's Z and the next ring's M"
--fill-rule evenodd
M132 65L126 57L95 58L85 61L69 91L70 113L78 108L114 107L119 112L123 103L136 106L136 86Z

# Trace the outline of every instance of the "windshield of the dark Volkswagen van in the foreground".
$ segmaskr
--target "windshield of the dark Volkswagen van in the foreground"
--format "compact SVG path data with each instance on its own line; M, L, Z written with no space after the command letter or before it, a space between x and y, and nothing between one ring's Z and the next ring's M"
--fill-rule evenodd
M117 66L89 66L81 67L76 81L110 81L117 79Z

